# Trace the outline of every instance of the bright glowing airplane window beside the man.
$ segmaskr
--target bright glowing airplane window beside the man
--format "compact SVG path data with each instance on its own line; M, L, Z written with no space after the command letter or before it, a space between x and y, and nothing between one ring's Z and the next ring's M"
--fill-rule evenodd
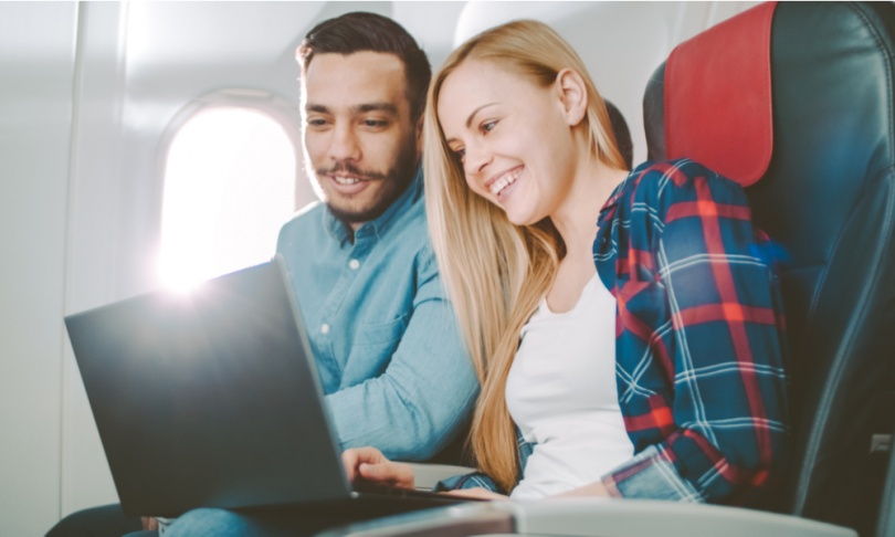
M190 117L169 146L159 273L187 289L270 261L295 210L295 147L270 115L233 106Z

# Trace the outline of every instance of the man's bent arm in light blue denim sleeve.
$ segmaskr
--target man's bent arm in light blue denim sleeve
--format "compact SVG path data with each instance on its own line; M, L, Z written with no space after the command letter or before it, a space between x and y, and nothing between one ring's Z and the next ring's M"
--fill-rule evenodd
M373 445L394 460L436 454L460 432L478 394L430 248L414 260L407 329L379 377L326 396L343 449Z

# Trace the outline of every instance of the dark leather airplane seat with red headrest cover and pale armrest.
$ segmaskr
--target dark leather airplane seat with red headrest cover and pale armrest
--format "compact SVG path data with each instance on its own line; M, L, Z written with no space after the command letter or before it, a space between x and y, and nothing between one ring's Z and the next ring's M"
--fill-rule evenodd
M772 493L491 503L329 535L895 537L893 35L889 2L764 3L678 45L645 91L650 158L743 183L775 245L793 443Z

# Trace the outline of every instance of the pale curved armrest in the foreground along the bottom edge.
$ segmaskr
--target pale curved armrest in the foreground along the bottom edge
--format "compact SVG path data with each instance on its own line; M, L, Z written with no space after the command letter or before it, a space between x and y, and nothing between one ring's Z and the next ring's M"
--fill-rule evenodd
M857 537L851 528L760 510L606 498L470 503L346 526L325 537L417 535Z

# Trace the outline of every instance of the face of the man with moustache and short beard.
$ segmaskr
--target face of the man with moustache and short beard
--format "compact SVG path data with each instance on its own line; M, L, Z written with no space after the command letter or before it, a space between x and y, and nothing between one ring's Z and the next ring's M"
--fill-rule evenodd
M404 191L419 162L404 66L394 54L315 55L304 78L304 139L314 179L357 229Z

